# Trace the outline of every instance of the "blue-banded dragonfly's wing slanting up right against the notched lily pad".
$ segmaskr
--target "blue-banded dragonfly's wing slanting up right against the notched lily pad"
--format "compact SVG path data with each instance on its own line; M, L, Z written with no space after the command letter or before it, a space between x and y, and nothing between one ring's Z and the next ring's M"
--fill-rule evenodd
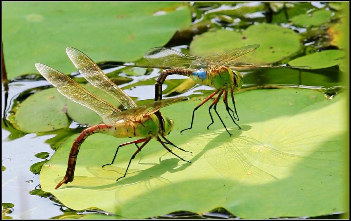
M234 48L230 51L226 51L221 54L216 54L205 58L199 58L191 63L190 68L204 68L211 70L219 69L221 67L227 66L228 63L239 58L240 56L243 56L244 54L256 50L259 46L259 44L253 44L241 48Z

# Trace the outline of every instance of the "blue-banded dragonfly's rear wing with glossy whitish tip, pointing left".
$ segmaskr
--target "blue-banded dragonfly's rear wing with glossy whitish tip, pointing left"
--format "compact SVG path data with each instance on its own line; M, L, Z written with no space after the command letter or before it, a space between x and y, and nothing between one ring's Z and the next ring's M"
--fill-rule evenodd
M189 67L194 60L199 59L197 56L187 55L165 47L151 48L146 51L144 57L150 62L150 66L163 69Z

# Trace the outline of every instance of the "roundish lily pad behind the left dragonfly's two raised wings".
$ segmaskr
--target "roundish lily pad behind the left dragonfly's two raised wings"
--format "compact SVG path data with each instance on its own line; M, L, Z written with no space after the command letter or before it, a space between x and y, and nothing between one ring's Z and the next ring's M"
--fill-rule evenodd
M117 100L100 89L90 85L82 86L114 106L120 105ZM68 127L67 115L81 125L102 122L100 116L92 110L67 99L56 88L50 88L35 93L23 101L16 110L12 123L27 133L47 132Z

